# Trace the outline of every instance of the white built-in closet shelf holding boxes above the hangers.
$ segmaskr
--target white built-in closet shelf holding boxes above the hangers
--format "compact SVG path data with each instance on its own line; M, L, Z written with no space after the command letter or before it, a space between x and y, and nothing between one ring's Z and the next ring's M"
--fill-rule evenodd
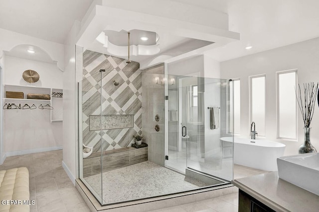
M3 101L5 103L44 103L45 105L50 105L53 107L53 110L50 111L50 122L62 122L62 106L63 106L63 100L62 98L55 98L52 97L53 92L59 92L63 93L63 89L60 88L49 88L49 87L37 87L37 86L30 86L30 85L10 85L5 84L4 85L4 95L5 91L14 91L14 92L23 92L23 99L14 99L14 98L3 98ZM27 99L26 95L28 93L33 94L48 94L50 95L50 100L45 99ZM62 96L62 95L61 95ZM23 105L21 105L23 106ZM30 105L31 106L31 105ZM39 105L36 105L38 107ZM44 105L43 105L44 106ZM3 105L2 105L3 107Z

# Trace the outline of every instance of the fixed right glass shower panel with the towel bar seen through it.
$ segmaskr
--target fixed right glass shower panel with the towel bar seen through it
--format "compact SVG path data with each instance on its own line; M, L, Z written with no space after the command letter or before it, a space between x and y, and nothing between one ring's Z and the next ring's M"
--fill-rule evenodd
M188 86L188 141L187 170L217 179L232 180L232 153L226 148L232 143L222 143L227 136L226 120L227 80L197 77L197 84ZM187 175L187 171L186 171Z

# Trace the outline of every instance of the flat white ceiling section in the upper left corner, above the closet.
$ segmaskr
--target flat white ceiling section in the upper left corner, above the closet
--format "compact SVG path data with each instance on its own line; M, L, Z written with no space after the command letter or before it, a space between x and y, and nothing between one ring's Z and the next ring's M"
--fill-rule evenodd
M64 44L93 0L0 0L0 28Z

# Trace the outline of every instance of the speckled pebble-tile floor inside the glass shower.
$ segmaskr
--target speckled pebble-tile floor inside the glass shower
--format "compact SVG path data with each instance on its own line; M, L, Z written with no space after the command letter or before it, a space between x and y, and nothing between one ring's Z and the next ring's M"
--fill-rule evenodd
M101 174L84 179L97 194L101 195ZM212 180L210 184L203 183L151 161L103 172L102 182L105 204L172 194L223 183L217 180Z

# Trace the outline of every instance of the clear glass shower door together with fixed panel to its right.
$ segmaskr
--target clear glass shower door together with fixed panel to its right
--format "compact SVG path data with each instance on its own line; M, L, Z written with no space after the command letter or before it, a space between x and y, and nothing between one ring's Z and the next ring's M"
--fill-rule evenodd
M166 75L165 166L186 176L233 179L232 143L227 134L229 80Z

